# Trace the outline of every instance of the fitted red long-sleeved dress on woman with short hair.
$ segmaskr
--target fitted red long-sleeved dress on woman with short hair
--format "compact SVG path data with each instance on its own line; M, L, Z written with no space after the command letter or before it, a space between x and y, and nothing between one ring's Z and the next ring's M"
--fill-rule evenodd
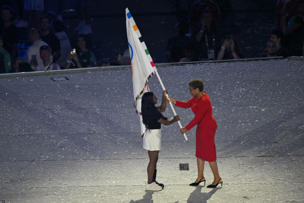
M196 150L195 156L208 161L216 161L216 148L214 143L214 136L217 128L217 123L212 116L212 106L209 96L204 92L204 96L200 98L193 97L188 102L181 102L176 100L175 106L181 108L190 108L195 114L194 119L185 127L190 130L195 125L196 128Z

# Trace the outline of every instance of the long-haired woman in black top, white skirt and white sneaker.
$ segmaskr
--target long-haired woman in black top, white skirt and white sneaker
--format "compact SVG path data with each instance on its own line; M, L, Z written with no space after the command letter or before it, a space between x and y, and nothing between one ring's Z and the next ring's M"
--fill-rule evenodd
M158 160L158 153L161 150L161 124L170 125L179 121L178 115L174 116L172 120L168 120L161 112L166 110L166 94L164 90L161 100L161 105L156 107L157 97L153 92L146 92L141 99L141 115L143 124L146 127L143 136L143 148L148 150L150 162L147 167L148 182L146 183L146 190L159 191L164 187L163 184L157 183L156 179L156 163Z

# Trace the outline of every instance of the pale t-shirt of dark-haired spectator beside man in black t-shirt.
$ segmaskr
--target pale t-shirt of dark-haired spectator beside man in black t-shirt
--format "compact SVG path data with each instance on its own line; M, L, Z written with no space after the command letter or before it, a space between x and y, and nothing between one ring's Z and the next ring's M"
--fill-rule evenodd
M61 51L61 55L56 61L56 64L58 64L60 67L65 67L67 65L67 57L71 53L71 43L69 38L67 37L67 34L64 31L60 33L55 33L55 35L60 40Z

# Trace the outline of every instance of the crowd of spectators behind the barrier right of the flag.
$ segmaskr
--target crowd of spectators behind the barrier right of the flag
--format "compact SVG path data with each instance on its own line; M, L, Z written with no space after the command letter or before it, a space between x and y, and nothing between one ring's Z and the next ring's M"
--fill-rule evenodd
M304 0L275 0L275 6L278 29L269 33L270 40L265 42L266 55L259 57L304 56ZM175 26L176 35L168 40L165 50L168 61L245 58L237 39L232 35L220 35L220 18L220 9L215 2L198 0L193 3L188 19L181 19ZM194 46L191 56L187 56L189 44Z

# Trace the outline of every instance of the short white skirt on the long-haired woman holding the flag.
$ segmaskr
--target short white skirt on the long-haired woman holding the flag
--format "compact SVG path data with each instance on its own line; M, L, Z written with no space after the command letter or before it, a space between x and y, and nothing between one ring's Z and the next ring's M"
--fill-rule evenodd
M147 130L143 135L143 149L149 151L161 150L161 129Z

